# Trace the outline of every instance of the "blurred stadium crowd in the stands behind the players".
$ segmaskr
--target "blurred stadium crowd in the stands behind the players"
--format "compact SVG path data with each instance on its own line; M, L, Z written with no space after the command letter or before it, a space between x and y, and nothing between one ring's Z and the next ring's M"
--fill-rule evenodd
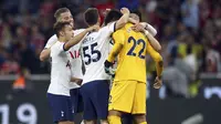
M221 1L220 0L1 0L0 2L0 74L49 73L49 62L39 54L54 34L53 17L57 8L72 11L75 29L85 28L83 12L88 7L127 7L138 9L143 21L154 25L162 45L164 81L178 94L188 95L185 86L197 82L199 73L221 71ZM155 66L148 61L148 72ZM176 76L175 76L176 74ZM177 78L177 79L176 79ZM176 84L180 81L179 90ZM166 83L167 84L167 83Z

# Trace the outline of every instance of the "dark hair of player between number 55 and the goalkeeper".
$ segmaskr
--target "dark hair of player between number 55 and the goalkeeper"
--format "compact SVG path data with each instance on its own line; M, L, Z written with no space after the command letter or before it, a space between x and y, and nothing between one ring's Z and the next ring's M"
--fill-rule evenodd
M112 21L117 21L122 16L123 14L118 10L112 9L105 17L104 24L106 25Z

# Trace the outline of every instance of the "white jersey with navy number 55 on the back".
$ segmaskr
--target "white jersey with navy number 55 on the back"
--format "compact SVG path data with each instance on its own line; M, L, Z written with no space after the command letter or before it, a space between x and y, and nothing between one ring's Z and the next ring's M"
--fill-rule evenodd
M82 41L82 58L85 65L83 84L95 80L109 80L104 71L104 62L109 53L110 34L115 30L115 22L101 28L97 32L88 33Z

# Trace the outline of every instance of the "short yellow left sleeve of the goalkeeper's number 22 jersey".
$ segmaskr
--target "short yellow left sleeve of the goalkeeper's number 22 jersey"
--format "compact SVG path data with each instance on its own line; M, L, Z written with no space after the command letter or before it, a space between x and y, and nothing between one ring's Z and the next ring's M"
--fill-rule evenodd
M114 32L113 40L114 40L114 43L124 44L124 42L125 42L124 30L117 30L116 32Z

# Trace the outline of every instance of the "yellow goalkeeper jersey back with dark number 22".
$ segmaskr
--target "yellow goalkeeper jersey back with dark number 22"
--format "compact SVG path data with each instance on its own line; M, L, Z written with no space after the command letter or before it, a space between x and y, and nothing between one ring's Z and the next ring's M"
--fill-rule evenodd
M140 32L131 30L127 23L113 34L114 40L123 44L118 55L115 81L136 80L146 82L146 48L148 40Z

